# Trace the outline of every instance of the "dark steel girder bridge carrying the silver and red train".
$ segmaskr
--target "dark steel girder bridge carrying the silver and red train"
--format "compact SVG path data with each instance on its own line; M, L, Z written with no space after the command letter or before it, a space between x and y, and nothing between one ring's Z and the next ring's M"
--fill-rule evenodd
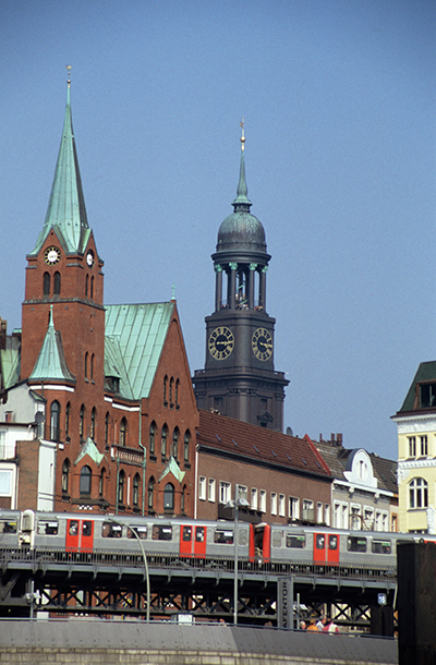
M43 612L145 619L147 584L153 619L183 614L233 621L232 558L153 555L145 566L136 554L0 548L0 617ZM395 571L386 569L242 559L238 565L239 624L292 627L299 616L322 610L339 626L370 631L380 604L392 615L395 596Z

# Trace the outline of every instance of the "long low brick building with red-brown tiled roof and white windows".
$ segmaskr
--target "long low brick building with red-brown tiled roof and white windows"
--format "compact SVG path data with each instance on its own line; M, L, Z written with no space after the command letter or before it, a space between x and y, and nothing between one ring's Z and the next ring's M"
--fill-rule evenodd
M226 504L245 498L242 519L329 523L330 470L308 436L298 438L199 411L195 516L230 517Z

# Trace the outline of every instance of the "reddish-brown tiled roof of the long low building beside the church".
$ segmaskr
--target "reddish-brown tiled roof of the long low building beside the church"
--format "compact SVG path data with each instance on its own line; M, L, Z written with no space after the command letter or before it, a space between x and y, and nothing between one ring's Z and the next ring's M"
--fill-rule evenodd
M296 438L210 411L199 411L197 444L261 464L330 479L327 464L308 437Z

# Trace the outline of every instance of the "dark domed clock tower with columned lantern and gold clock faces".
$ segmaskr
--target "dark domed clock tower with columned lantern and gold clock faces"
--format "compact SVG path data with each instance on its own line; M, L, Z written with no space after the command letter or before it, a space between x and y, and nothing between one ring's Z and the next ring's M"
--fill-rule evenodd
M275 318L266 309L266 251L262 222L250 213L245 182L245 136L233 213L218 231L211 255L215 312L206 317L206 363L194 373L199 409L214 409L270 430L283 428L288 380L274 368Z

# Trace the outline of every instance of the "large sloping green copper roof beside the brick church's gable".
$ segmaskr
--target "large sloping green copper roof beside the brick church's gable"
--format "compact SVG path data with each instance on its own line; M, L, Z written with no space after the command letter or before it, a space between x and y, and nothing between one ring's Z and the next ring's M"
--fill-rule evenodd
M106 307L105 374L120 377L123 397L148 397L173 310L173 301Z

